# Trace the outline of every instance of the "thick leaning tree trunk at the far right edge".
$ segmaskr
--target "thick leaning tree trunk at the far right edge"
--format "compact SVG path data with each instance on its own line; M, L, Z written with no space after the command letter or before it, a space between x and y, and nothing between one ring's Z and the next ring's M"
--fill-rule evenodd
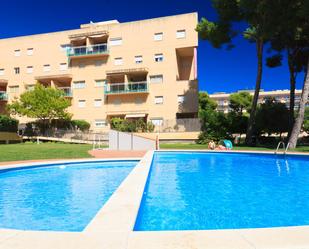
M306 108L306 103L308 101L308 94L309 94L309 58L308 58L308 62L307 62L307 73L306 73L306 78L304 81L304 86L303 86L303 90L302 90L302 94L301 94L301 99L300 99L300 103L299 103L299 112L298 115L296 117L294 126L293 126L293 130L289 139L289 143L290 143L290 148L294 149L297 145L297 138L299 136L299 133L301 131L301 127L303 125L304 122L304 115L305 115L305 108Z

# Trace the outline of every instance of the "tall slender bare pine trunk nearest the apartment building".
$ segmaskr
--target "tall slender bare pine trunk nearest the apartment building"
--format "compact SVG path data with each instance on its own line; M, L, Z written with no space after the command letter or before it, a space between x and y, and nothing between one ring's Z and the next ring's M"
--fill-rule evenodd
M257 67L255 91L254 91L250 118L249 118L248 127L247 127L246 141L245 141L247 145L253 144L252 135L253 135L253 129L254 129L254 122L255 122L255 113L256 113L256 108L257 108L257 104L259 100L259 94L260 94L260 88L261 88L261 82L262 82L262 73L263 73L263 47L264 47L264 41L258 40L256 42L258 67Z

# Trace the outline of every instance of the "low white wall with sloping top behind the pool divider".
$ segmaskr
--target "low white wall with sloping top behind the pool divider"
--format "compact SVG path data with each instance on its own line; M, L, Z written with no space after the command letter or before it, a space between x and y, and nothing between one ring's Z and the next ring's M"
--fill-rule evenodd
M110 150L155 150L156 141L149 138L136 136L133 133L110 130Z

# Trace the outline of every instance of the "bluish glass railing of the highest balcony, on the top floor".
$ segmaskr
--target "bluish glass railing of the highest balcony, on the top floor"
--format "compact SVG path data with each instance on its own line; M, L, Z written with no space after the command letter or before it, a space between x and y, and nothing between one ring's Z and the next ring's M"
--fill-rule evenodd
M92 46L71 47L67 49L67 56L86 56L108 54L107 43Z

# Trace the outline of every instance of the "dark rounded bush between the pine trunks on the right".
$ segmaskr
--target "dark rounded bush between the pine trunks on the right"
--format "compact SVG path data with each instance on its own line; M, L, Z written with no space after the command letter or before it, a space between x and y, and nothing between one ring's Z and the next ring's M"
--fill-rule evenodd
M258 134L281 134L289 128L289 110L284 103L268 98L260 104L256 114L256 132Z

